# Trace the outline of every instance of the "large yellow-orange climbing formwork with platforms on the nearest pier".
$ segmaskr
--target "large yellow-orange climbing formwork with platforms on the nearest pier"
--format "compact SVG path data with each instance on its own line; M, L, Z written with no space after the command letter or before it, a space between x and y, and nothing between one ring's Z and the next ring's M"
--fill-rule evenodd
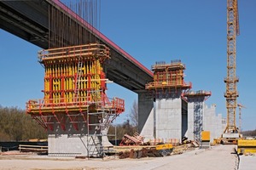
M26 112L50 134L86 136L88 156L102 156L109 123L125 111L123 99L109 100L106 95L103 63L109 58L109 48L97 43L39 51L45 69L44 99L26 103Z

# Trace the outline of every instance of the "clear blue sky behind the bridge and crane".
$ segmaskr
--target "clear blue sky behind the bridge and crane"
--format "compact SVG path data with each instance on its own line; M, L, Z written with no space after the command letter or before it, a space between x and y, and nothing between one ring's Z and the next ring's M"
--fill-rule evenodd
M226 1L225 0L102 0L99 30L148 69L156 61L181 59L185 82L207 90L207 105L226 117ZM256 129L256 1L239 3L240 36L236 37L236 75L242 110L242 130ZM44 68L38 48L0 29L0 105L25 109L28 99L42 99ZM137 94L108 84L108 97L125 99L124 122ZM238 117L238 110L236 111ZM236 122L238 126L238 120Z

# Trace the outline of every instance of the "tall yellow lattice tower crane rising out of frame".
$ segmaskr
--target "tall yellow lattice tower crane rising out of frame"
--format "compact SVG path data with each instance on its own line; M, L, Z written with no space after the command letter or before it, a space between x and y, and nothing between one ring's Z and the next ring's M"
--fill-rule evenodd
M236 85L239 82L238 77L236 77L236 36L239 34L237 0L227 0L227 77L224 78L227 125L222 137L232 142L240 137L236 127L236 98L239 96Z

